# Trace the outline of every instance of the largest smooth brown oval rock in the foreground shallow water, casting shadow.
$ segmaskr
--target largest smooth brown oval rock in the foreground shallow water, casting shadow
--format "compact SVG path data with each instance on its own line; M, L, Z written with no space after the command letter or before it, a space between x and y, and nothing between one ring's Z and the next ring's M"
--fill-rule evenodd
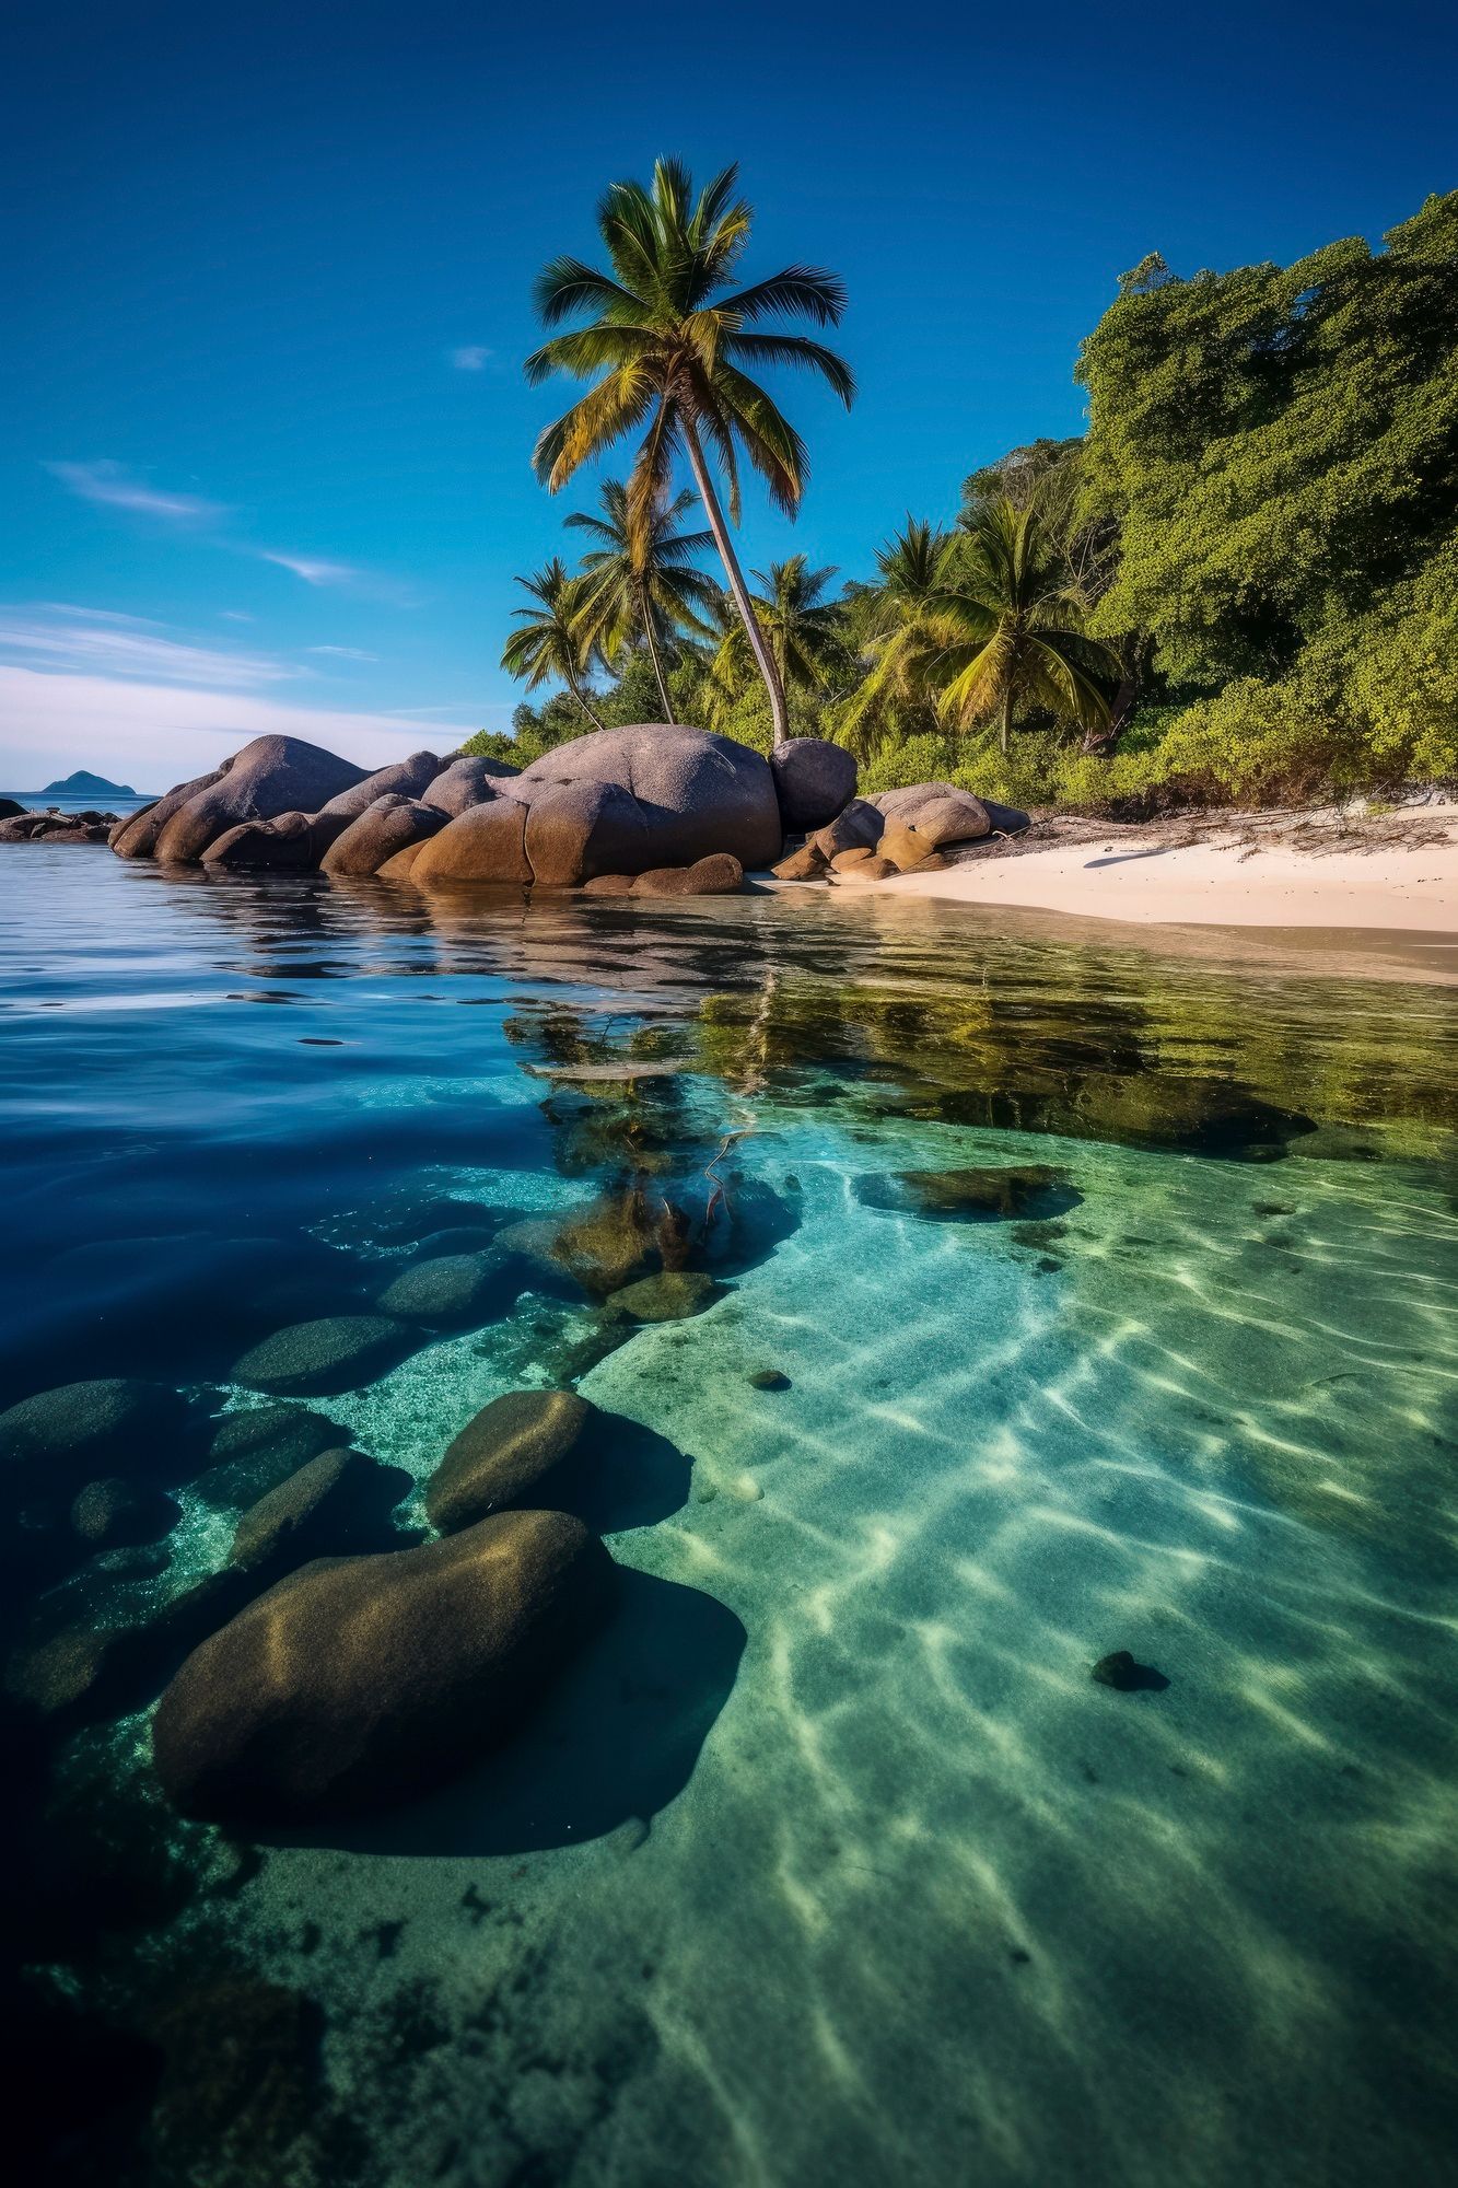
M166 1796L215 1823L407 1801L530 1709L600 1617L611 1558L565 1512L306 1564L193 1650L158 1704Z

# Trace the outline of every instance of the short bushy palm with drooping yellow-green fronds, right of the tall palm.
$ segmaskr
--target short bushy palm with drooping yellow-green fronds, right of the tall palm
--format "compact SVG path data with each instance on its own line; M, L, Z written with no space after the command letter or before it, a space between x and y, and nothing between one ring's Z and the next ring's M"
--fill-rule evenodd
M963 534L954 582L933 595L948 632L941 715L959 729L996 715L1003 753L1022 705L1046 707L1086 731L1103 726L1110 705L1097 678L1116 680L1119 661L1084 635L1084 608L1051 551L1038 503L1018 510L1007 497L985 501L963 519Z

